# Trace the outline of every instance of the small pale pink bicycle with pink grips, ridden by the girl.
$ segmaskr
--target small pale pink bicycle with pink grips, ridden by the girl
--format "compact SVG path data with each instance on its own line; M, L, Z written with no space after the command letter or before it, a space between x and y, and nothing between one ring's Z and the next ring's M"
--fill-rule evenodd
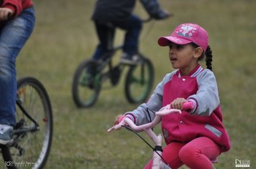
M193 109L193 103L192 102L184 102L183 103L183 110L191 110ZM167 105L160 109L158 112L155 112L155 118L152 120L152 122L147 123L145 125L135 125L132 120L129 119L129 117L122 116L119 118L119 124L114 125L113 127L109 128L107 132L111 132L113 130L118 130L122 127L125 127L127 130L130 130L134 132L136 135L138 135L142 140L150 146L153 150L153 162L152 162L152 169L160 169L163 168L164 165L168 165L166 163L165 159L162 157L162 135L156 135L155 132L152 131L152 128L155 127L160 121L161 117L163 115L168 115L170 113L180 113L181 110L178 109L172 109L170 105ZM153 148L143 137L141 137L137 132L145 131L147 135L153 140L155 144L155 148ZM161 160L162 159L162 160Z

